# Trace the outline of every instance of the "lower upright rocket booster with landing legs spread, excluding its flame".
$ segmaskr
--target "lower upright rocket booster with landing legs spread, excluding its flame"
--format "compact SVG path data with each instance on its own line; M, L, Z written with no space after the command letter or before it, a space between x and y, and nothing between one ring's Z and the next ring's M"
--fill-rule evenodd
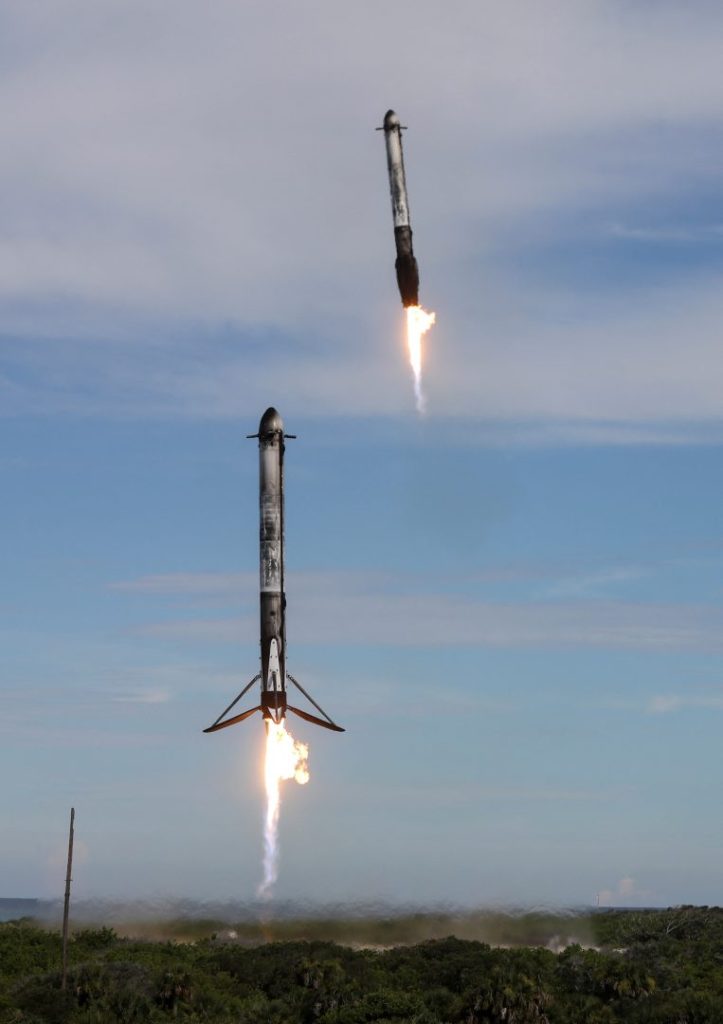
M309 696L299 682L286 671L286 594L284 592L284 439L295 434L284 433L284 421L275 409L267 409L261 417L258 433L259 447L259 603L261 611L261 672L247 683L241 693L228 705L213 725L204 732L218 732L237 722L243 722L254 712L260 711L269 721L281 723L287 711L307 722L344 732ZM261 682L261 701L240 715L226 715L254 683ZM289 680L322 716L294 708L287 701L286 683Z

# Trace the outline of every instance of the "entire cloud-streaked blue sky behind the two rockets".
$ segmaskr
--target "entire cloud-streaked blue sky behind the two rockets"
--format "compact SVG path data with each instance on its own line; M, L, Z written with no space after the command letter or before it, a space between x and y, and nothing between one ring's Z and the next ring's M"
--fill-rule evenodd
M719 901L723 11L0 15L0 876L250 899L257 458L290 431L278 894ZM428 342L420 420L382 141Z

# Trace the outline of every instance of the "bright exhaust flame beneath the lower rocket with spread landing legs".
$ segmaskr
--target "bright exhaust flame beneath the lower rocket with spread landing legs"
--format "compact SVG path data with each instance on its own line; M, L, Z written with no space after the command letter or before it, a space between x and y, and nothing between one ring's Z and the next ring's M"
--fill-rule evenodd
M262 899L270 899L273 884L279 876L279 815L281 813L281 783L296 779L299 785L309 780L309 749L287 732L284 722L266 720L266 758L264 777L266 783L266 815L263 824L263 882L258 887Z

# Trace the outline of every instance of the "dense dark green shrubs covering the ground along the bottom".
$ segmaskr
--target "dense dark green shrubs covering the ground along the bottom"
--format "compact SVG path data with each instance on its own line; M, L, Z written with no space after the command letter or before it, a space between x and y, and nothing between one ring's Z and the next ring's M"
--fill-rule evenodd
M249 946L0 925L0 1024L721 1024L723 910L609 911L596 948L460 938L386 949L322 939Z

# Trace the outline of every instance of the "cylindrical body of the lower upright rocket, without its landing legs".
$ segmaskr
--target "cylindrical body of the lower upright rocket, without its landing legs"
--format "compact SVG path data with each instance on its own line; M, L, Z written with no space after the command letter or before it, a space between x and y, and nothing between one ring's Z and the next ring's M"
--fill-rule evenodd
M284 421L275 409L267 409L261 417L258 444L261 702L264 708L283 714L286 710Z

